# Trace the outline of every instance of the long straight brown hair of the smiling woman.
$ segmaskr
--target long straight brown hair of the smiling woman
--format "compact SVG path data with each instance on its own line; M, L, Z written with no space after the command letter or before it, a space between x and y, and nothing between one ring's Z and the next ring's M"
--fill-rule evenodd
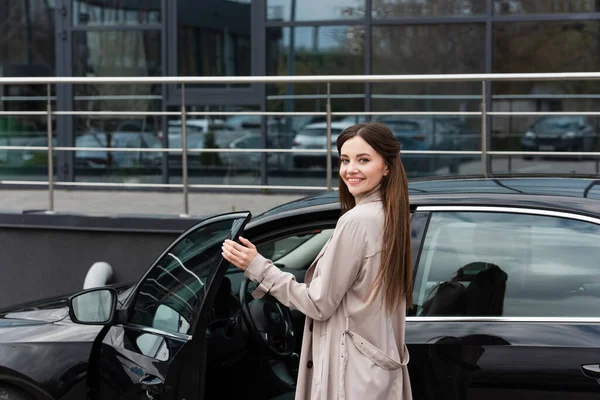
M406 299L406 307L412 307L412 248L410 240L410 205L408 203L408 179L400 161L400 143L385 125L361 123L342 131L337 138L341 154L344 143L355 136L363 138L385 160L389 173L381 180L380 192L385 214L381 267L370 297L383 296L388 312L394 311ZM339 196L342 214L356 204L343 179L339 180Z

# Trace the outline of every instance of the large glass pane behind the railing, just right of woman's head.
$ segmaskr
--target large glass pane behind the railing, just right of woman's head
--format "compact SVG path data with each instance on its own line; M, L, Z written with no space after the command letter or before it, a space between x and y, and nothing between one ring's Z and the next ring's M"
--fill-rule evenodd
M483 24L385 25L373 27L373 74L459 74L485 70ZM427 51L423 51L427 49ZM373 84L374 111L479 111L479 82L415 82ZM476 150L477 117L382 116L404 150ZM481 166L476 157L406 154L402 156L410 177L467 173ZM477 173L477 172L474 172Z

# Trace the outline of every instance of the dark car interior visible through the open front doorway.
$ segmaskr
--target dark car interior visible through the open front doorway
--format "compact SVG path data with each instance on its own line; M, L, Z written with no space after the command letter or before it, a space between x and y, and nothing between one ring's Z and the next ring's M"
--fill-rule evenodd
M311 229L256 245L261 255L303 282L332 233L333 227ZM254 300L256 286L231 267L219 287L207 332L207 399L294 397L305 316L268 295ZM217 384L224 376L235 384Z

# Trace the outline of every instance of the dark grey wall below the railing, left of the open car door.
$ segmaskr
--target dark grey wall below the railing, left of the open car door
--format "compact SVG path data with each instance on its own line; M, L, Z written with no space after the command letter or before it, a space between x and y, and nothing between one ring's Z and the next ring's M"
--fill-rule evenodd
M199 220L0 214L0 307L81 290L96 261L137 281Z

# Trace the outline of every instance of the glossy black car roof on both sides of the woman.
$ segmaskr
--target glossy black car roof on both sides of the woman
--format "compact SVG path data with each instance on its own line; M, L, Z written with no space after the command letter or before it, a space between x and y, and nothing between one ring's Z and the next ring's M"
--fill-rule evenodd
M600 216L600 179L583 177L458 177L409 182L410 203L535 207ZM337 190L282 204L257 219L339 209Z

